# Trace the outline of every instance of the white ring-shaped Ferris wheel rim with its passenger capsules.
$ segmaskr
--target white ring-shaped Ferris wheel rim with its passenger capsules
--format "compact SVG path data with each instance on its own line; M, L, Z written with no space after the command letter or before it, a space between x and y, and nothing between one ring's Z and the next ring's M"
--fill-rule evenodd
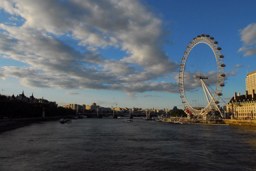
M192 113L193 115L202 115L204 112L209 110L210 107L212 108L213 106L215 106L216 103L219 102L218 100L222 95L221 91L223 86L225 86L223 84L224 77L225 77L225 74L224 74L225 64L223 64L223 59L222 59L224 56L220 52L221 48L217 46L218 42L216 43L216 41L213 41L213 39L214 38L210 37L209 35L207 37L203 36L203 34L202 36L197 36L197 38L194 38L192 42L189 42L189 45L187 46L186 51L183 54L181 64L180 64L179 85L180 85L180 97L182 99L182 103L184 103L184 109L187 114ZM190 51L200 43L205 43L208 46L210 46L210 48L214 53L214 56L217 62L217 83L216 83L214 94L211 98L211 102L208 103L208 105L205 106L203 109L196 110L188 103L188 100L186 97L186 93L184 90L184 70L185 70L186 61Z

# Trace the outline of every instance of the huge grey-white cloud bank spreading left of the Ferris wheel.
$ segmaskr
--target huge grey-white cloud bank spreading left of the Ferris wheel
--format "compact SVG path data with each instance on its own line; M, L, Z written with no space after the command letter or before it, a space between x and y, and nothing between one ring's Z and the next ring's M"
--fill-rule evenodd
M0 8L23 22L0 24L0 54L27 64L2 67L3 78L28 87L179 93L176 83L155 81L179 65L163 51L162 20L140 1L3 0ZM110 47L126 55L98 52Z

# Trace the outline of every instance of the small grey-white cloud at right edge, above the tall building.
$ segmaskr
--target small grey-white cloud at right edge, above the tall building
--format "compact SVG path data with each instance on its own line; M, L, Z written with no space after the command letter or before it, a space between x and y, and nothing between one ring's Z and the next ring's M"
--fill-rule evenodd
M245 28L240 30L241 41L244 46L241 47L238 52L244 51L244 56L256 54L256 23L251 23Z

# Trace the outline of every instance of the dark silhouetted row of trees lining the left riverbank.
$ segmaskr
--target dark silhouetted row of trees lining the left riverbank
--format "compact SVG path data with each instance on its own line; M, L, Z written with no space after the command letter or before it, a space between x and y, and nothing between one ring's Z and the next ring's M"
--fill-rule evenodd
M2 96L0 96L2 97ZM0 116L8 118L35 118L75 115L75 111L46 103L28 103L21 100L0 98Z

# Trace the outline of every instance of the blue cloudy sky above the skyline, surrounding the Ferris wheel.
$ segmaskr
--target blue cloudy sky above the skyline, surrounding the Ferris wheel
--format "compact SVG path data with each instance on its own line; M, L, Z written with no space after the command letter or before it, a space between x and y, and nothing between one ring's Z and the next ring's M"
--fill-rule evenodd
M59 106L184 109L181 58L193 38L209 34L225 56L223 106L234 92L244 94L246 73L256 70L255 6L255 0L0 0L1 94L24 90Z

